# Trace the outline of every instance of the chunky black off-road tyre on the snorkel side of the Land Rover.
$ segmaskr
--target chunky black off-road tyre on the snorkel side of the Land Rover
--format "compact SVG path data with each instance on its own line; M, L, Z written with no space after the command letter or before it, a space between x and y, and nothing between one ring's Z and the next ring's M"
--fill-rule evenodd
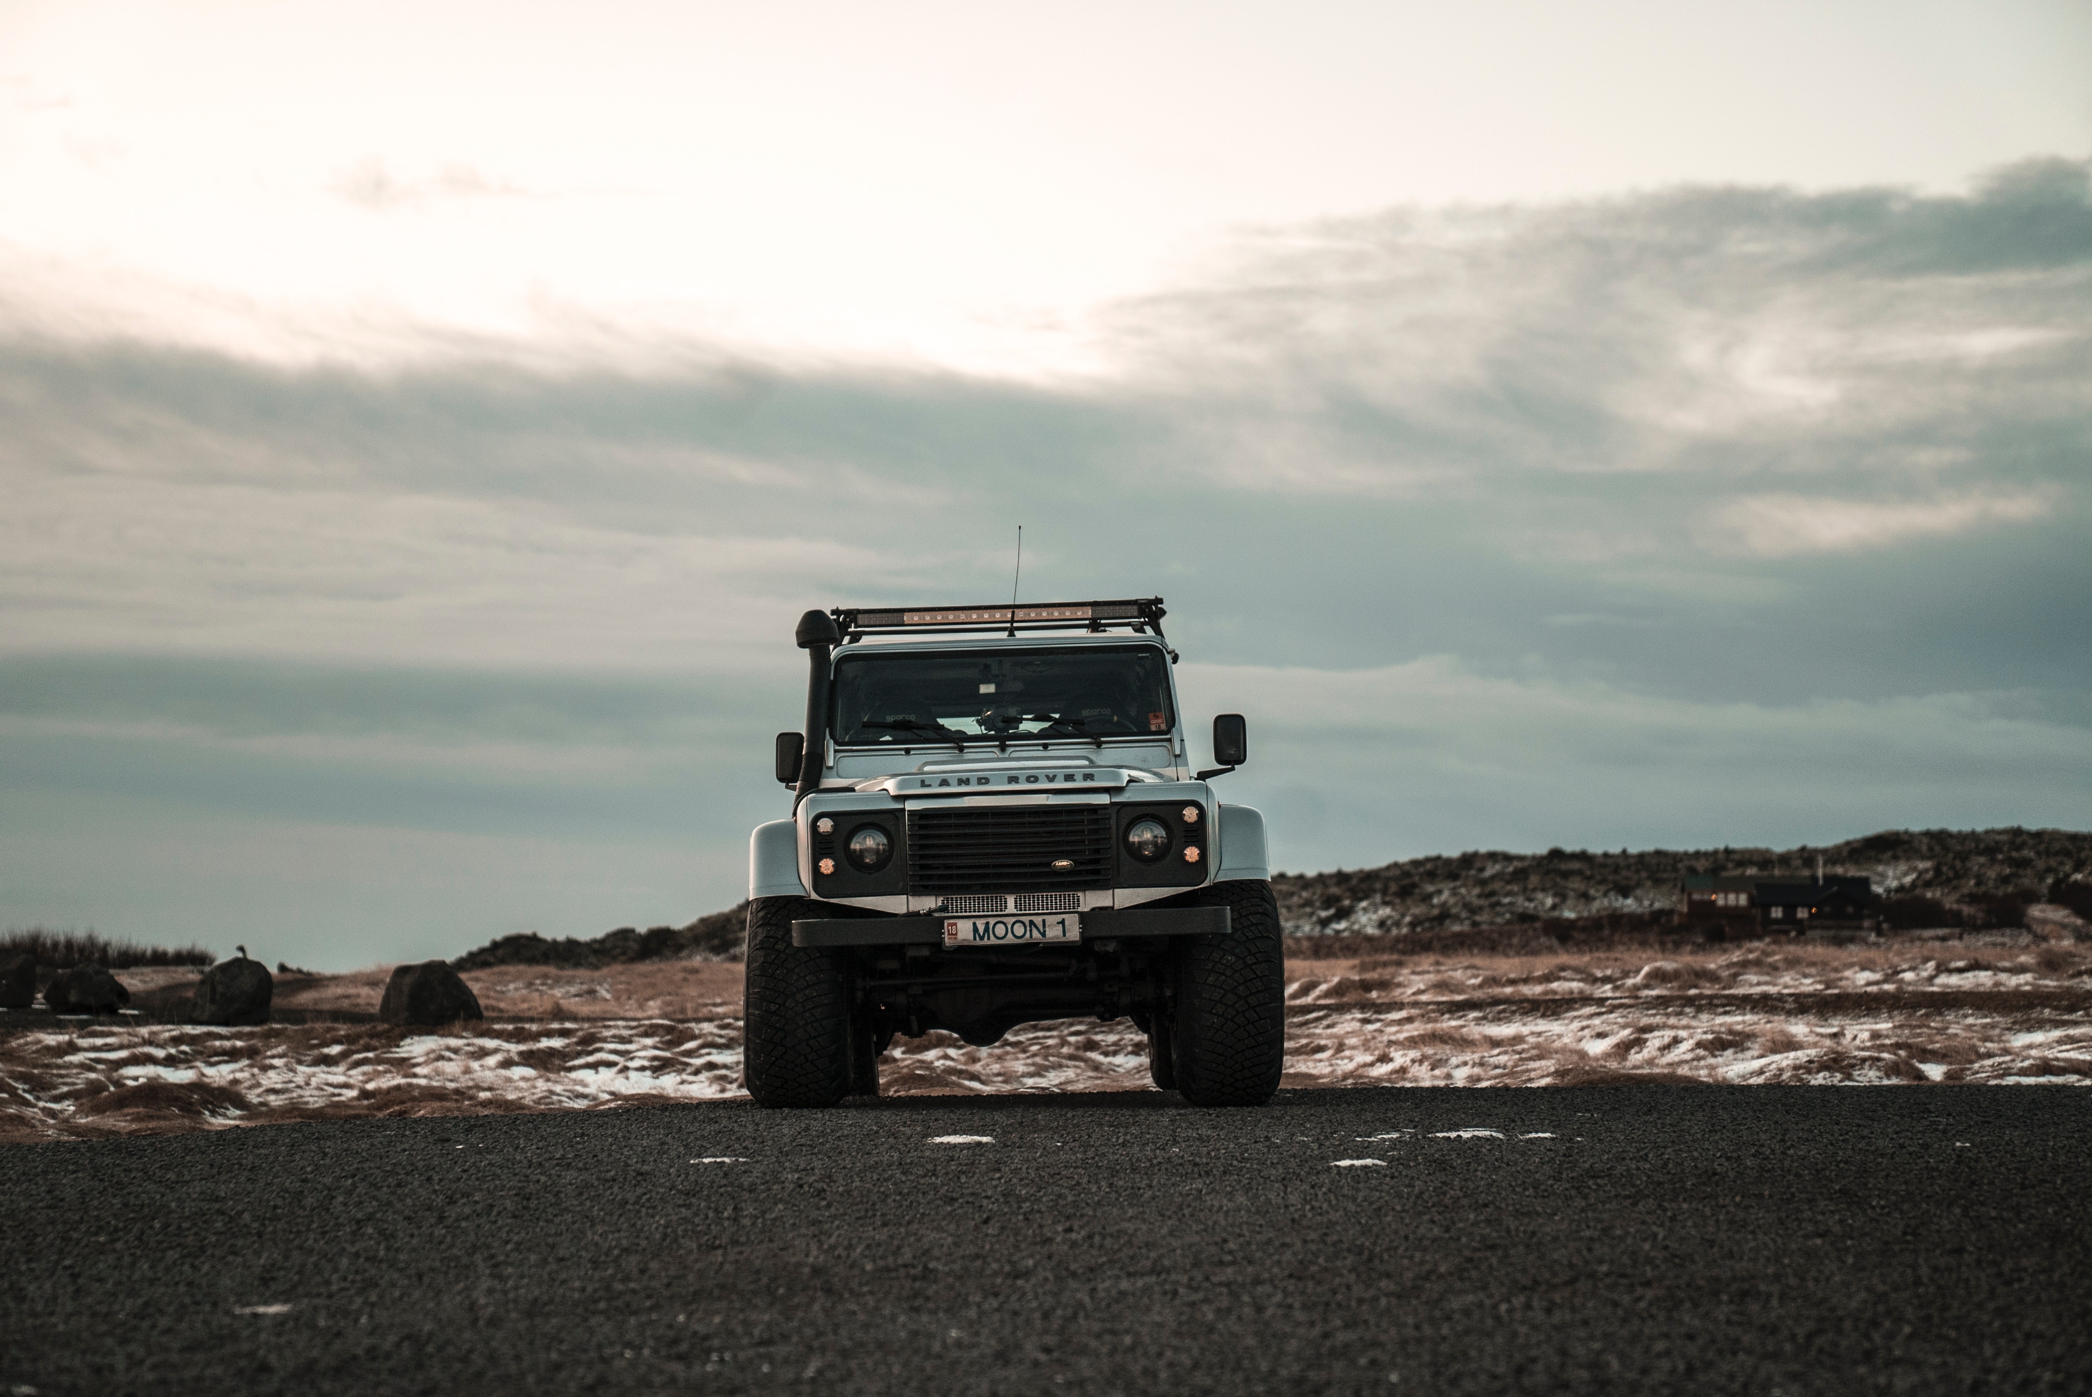
M849 983L833 952L791 943L803 897L749 903L741 1075L757 1106L833 1106L851 1085Z

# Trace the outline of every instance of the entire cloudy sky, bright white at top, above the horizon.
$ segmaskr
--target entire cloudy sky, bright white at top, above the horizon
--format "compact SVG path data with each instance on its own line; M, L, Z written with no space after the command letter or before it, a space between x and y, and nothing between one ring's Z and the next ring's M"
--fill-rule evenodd
M2092 10L0 0L0 926L730 906L1019 525L1284 870L2088 828Z

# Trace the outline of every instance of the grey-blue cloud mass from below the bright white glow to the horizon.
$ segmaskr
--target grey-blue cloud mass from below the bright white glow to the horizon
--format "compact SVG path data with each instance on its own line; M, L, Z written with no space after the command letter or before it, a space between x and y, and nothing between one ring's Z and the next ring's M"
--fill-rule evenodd
M1029 600L1167 594L1289 868L2084 824L2084 171L1270 230L1050 385L0 316L0 920L726 906L799 611L992 598L1019 523ZM542 874L590 857L644 910Z

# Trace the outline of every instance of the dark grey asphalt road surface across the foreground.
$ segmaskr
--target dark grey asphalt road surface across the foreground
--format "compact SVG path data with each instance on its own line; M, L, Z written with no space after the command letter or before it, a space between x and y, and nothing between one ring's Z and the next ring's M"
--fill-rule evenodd
M0 1393L2092 1391L2069 1087L341 1121L0 1207Z

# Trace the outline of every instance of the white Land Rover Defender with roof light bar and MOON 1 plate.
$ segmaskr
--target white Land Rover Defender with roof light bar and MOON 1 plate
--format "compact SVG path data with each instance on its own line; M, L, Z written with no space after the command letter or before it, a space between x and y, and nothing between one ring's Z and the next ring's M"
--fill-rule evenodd
M994 1044L1040 1018L1132 1016L1155 1085L1272 1098L1284 1058L1264 818L1190 770L1159 596L810 611L793 818L749 843L749 1094L879 1092L895 1033ZM1059 634L1054 634L1059 632ZM1119 634L1115 634L1119 632Z

